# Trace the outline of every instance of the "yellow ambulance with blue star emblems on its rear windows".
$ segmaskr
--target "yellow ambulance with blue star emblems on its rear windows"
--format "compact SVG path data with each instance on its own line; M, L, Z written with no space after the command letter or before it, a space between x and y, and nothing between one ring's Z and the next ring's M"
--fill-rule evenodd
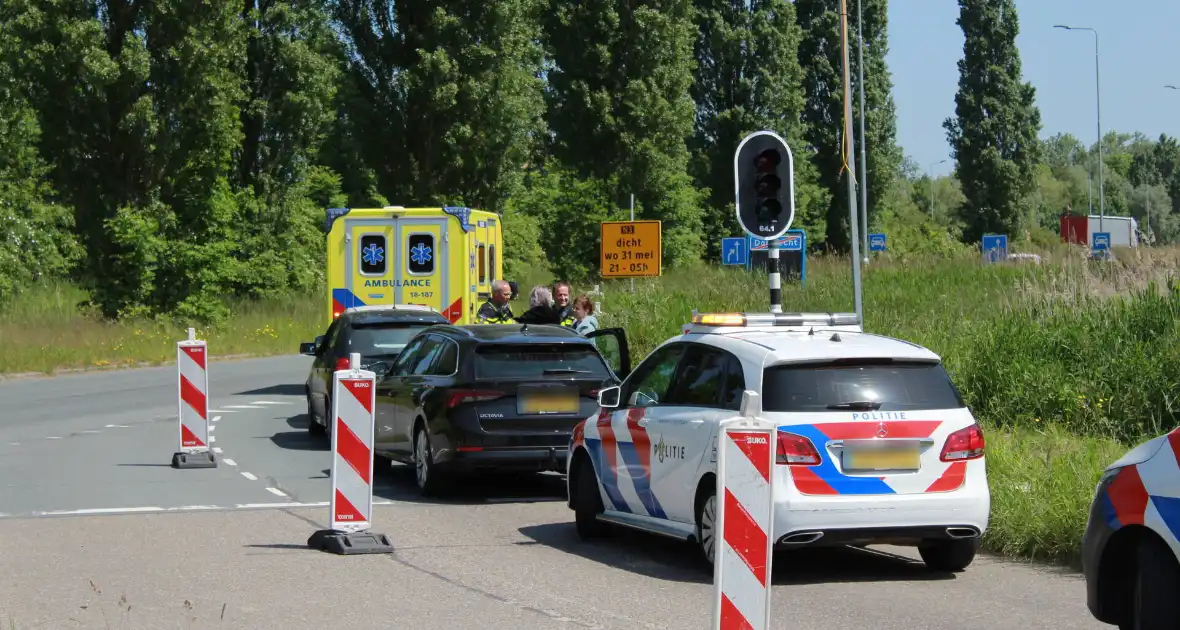
M347 308L421 304L474 323L504 273L499 215L461 206L329 208L328 323Z

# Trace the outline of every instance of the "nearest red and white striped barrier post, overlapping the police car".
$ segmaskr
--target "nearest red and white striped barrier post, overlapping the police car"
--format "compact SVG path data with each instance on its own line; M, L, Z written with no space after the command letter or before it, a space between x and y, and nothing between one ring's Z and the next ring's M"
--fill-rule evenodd
M741 416L720 431L713 628L769 630L778 427L761 418L758 394L747 391Z

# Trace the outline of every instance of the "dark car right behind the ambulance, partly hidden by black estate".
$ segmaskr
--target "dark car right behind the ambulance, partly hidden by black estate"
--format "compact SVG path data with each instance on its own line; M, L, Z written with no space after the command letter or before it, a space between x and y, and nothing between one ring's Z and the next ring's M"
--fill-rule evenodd
M415 304L365 306L345 310L315 341L301 343L299 352L314 356L307 376L307 429L322 435L332 409L332 374L348 369L348 355L359 353L361 367L373 369L392 363L406 343L424 329L451 323L442 314Z

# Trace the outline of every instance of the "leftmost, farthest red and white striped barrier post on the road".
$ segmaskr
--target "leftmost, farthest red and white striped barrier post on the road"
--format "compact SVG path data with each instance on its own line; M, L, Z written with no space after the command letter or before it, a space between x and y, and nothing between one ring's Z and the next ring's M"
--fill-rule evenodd
M177 421L181 449L172 454L173 468L216 468L209 446L209 353L189 328L189 339L176 342Z

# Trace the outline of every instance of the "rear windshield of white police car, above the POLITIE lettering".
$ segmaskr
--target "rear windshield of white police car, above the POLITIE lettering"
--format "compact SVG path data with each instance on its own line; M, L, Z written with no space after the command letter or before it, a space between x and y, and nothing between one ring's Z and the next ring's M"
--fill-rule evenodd
M963 406L963 399L940 363L865 361L773 366L766 368L762 376L762 408L768 412L957 409Z

